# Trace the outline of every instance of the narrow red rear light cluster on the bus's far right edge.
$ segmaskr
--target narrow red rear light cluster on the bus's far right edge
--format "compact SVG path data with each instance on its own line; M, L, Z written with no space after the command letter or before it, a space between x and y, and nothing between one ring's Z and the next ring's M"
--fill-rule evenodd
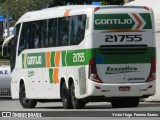
M151 70L147 82L151 82L155 79L156 79L156 57L153 57L151 62Z

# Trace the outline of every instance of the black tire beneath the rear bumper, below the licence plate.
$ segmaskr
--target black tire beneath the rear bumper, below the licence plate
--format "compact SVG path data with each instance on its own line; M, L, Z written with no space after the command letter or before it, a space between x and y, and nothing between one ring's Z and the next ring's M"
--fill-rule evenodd
M113 108L137 107L139 98L123 98L111 101Z

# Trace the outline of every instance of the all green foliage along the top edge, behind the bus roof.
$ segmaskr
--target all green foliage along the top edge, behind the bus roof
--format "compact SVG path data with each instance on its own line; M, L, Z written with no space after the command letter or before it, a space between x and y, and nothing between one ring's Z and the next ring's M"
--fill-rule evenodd
M66 5L68 2L70 4L91 4L92 1L101 1L103 5L123 4L123 0L0 0L0 13L3 16L6 15L7 1L9 14L13 16L15 22L26 12L40 10L46 7Z

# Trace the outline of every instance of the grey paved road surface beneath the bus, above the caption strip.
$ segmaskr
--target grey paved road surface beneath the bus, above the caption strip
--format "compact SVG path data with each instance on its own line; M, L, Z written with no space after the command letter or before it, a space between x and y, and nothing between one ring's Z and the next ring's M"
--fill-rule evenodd
M0 100L0 111L68 111L61 102L38 103L34 109L24 109L18 100ZM75 110L69 110L75 111ZM88 103L76 111L160 111L160 102L141 102L138 107L112 108L108 102Z

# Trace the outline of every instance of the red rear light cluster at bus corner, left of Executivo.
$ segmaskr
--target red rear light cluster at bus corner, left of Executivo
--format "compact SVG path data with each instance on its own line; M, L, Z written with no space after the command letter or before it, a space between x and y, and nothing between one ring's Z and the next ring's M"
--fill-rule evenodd
M100 78L97 74L97 67L96 67L95 59L90 59L88 77L89 77L90 80L92 80L94 82L102 83L102 81L100 80Z

